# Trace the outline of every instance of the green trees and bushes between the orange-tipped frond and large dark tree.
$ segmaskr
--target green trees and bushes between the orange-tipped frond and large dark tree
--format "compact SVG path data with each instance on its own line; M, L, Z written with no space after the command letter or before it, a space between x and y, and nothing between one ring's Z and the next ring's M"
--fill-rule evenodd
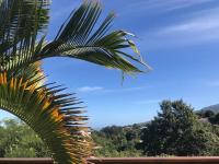
M92 137L97 145L95 156L140 156L141 150L136 145L139 139L140 126L105 127L93 131Z

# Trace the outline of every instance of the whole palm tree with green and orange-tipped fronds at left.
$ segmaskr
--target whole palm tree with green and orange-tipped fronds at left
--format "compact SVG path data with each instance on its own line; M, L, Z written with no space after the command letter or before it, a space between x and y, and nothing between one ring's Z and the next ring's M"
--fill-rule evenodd
M85 163L92 140L81 102L57 84L45 84L41 61L69 57L127 74L147 66L125 31L110 32L114 13L100 25L97 1L73 10L53 40L46 40L49 0L0 0L0 108L25 121L47 144L55 163ZM137 56L124 48L132 48ZM132 63L135 62L135 63Z

